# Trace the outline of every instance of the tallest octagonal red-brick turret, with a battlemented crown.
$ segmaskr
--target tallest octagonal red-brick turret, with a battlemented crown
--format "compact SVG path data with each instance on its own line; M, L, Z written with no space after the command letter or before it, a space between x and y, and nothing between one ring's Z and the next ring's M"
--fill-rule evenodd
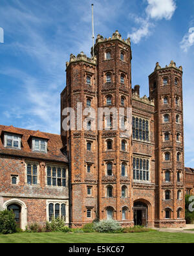
M124 110L117 117L120 128L98 131L98 217L129 224L133 222L131 134L125 133L125 120L127 108L131 108L131 45L116 30L109 39L98 35L94 52L98 64L98 108L114 108L117 113L120 108ZM105 117L103 122L105 127Z

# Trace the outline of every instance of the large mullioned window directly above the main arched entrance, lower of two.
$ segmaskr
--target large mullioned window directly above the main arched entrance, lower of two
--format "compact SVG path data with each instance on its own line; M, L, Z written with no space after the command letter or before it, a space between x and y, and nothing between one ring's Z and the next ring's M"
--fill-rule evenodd
M133 180L149 181L149 160L133 157Z

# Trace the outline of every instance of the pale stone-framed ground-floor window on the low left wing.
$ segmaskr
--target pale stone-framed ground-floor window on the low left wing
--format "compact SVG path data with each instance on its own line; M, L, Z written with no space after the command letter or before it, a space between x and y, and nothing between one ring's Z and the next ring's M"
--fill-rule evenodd
M63 218L65 220L66 216L66 204L64 203L50 203L48 204L48 220L51 221L52 218Z

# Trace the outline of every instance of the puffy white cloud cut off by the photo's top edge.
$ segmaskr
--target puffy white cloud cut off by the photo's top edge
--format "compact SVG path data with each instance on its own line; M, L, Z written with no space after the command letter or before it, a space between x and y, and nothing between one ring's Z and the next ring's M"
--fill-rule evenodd
M174 0L147 0L146 13L151 19L171 19L177 6Z

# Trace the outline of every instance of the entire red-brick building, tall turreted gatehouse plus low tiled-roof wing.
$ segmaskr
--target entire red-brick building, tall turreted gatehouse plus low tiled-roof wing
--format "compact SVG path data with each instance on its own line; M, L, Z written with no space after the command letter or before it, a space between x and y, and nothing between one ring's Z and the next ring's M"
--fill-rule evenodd
M61 136L0 126L0 206L14 209L21 227L52 215L73 227L97 218L183 227L194 172L185 176L182 67L157 63L149 97L140 98L140 86L131 87L129 39L118 31L109 39L98 35L94 54L71 54L67 62ZM90 114L99 108L120 115L103 113L102 128L92 129L98 115ZM65 130L67 120L75 128Z

